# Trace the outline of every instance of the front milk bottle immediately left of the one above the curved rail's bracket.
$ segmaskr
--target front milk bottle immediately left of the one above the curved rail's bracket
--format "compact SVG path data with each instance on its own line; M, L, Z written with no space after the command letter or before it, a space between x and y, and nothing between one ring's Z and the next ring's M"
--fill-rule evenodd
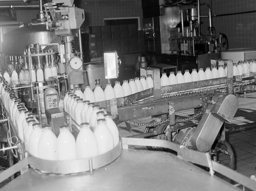
M57 138L58 160L76 159L76 140L67 125L60 127L60 134Z

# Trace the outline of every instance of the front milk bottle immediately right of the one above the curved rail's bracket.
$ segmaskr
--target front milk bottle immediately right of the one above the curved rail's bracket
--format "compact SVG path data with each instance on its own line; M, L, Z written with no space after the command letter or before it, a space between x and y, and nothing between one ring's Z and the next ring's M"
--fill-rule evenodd
M94 130L94 135L98 143L99 155L106 153L114 148L114 141L109 128L106 125L106 120L100 119Z

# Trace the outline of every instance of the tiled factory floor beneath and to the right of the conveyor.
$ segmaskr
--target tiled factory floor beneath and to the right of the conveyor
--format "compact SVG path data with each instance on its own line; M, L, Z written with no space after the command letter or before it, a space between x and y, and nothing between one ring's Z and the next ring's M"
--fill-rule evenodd
M239 108L232 123L226 123L226 140L232 146L235 155L235 169L239 173L250 177L256 176L256 92L240 94ZM193 110L177 112L176 115L188 117L193 115ZM150 122L151 117L137 119L140 122ZM251 125L250 125L251 124ZM121 123L120 136L128 137L143 133L145 127L131 125L132 131L128 132L125 123ZM130 146L133 149L143 147ZM229 165L229 156L220 153L218 160L225 166ZM225 179L225 177L220 176Z

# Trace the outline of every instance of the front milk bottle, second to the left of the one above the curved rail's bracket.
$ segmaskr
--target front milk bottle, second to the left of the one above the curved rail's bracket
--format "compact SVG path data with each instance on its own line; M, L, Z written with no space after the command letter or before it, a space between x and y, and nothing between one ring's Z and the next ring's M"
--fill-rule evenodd
M38 143L39 158L45 160L58 160L57 137L52 132L52 127L43 128L41 138Z

